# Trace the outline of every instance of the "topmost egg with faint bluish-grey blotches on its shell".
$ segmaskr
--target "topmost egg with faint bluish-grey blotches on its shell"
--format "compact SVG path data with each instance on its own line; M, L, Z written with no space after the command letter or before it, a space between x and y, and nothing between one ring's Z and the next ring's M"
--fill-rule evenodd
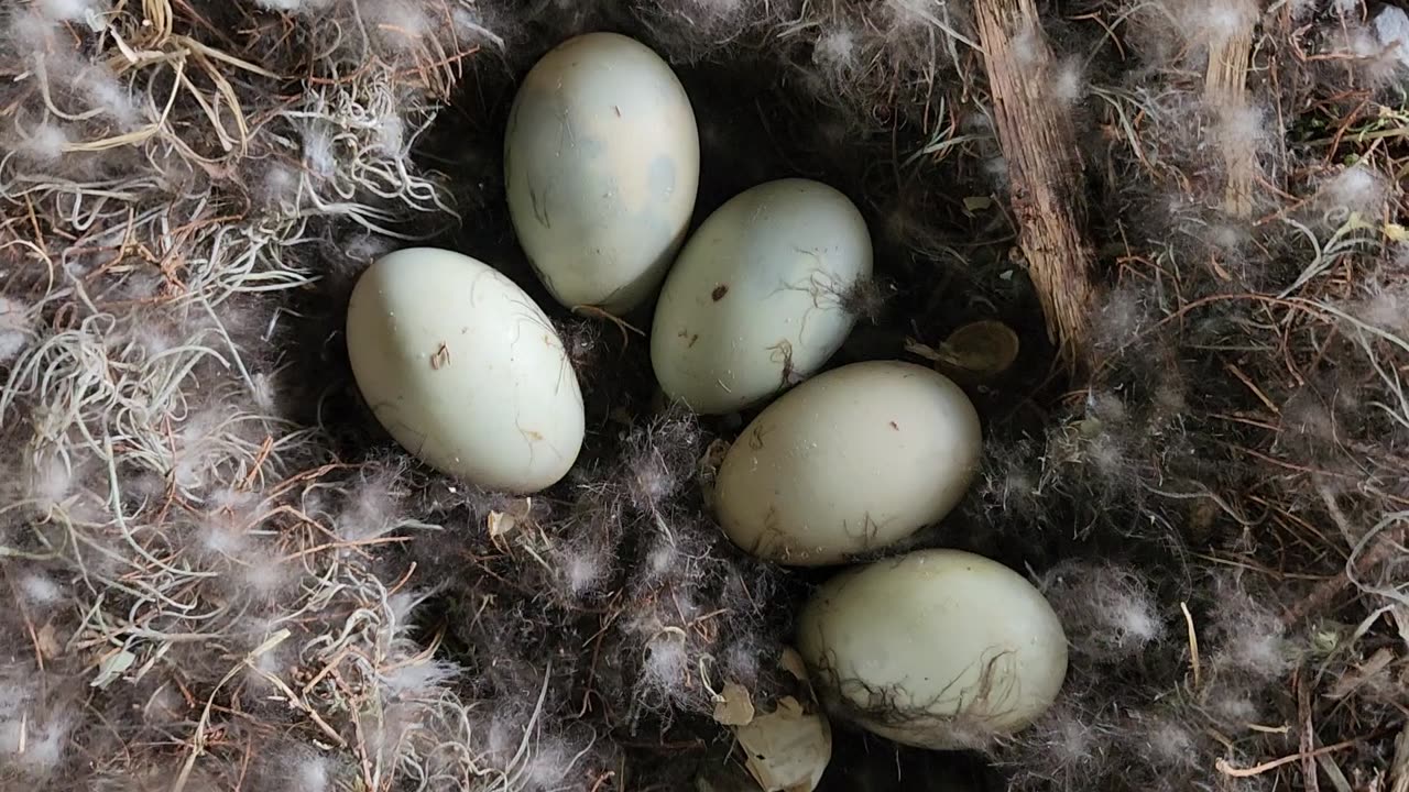
M613 32L571 38L524 78L504 135L509 214L565 306L626 313L685 241L699 131L675 72Z

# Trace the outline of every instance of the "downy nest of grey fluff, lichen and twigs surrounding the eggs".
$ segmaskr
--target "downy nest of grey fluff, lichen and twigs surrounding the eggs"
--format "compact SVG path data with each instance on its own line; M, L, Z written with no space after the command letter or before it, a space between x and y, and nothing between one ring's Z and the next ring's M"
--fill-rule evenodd
M706 507L740 416L664 404L637 317L555 310L589 438L510 497L390 443L345 359L351 282L397 247L554 304L503 130L538 56L614 30L690 93L697 220L782 176L862 209L878 280L833 364L933 362L985 423L906 547L1023 571L1071 640L1040 723L952 754L838 723L823 789L1409 789L1396 13L10 4L0 785L748 788L720 692L788 688L820 578ZM957 352L979 321L1007 365Z

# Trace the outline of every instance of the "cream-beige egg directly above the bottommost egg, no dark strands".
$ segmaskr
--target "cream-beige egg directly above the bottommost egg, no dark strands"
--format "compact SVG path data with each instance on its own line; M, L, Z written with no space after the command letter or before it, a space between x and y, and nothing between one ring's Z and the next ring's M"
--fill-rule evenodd
M974 404L944 375L848 364L783 393L744 428L720 464L716 510L759 558L837 564L944 517L981 447Z

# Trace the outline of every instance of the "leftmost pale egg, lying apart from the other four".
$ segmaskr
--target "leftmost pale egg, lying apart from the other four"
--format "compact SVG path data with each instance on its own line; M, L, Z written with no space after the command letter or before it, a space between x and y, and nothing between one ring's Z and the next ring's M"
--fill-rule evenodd
M426 464L528 493L582 448L578 375L533 297L454 251L407 248L352 289L348 357L378 421Z

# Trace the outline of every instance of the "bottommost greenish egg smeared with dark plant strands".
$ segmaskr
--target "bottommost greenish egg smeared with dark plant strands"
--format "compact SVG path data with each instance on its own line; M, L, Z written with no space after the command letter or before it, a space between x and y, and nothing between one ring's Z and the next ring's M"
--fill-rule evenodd
M797 650L824 706L907 745L979 747L1033 723L1067 675L1067 637L1022 575L923 550L827 581Z

